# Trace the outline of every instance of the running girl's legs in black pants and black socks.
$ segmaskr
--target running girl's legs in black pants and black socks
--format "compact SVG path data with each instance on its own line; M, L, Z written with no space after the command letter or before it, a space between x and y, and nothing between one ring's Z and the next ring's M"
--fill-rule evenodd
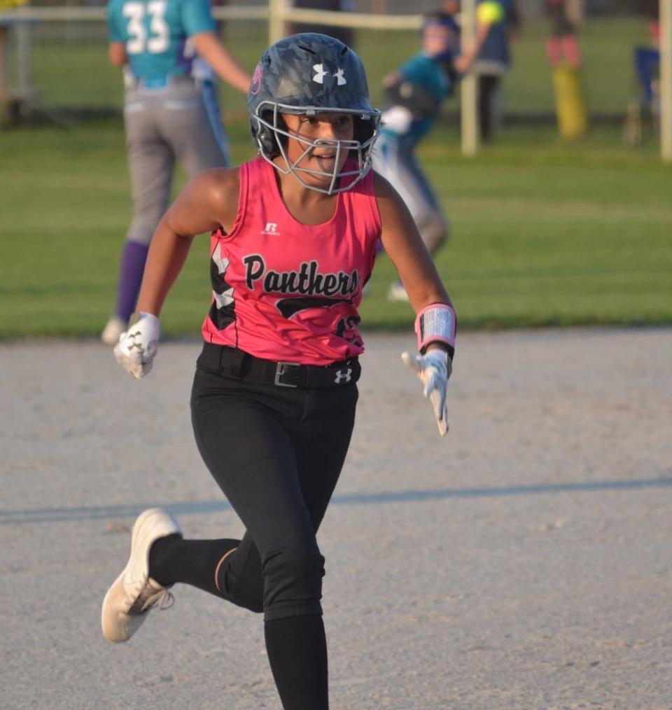
M355 383L289 388L197 368L196 441L246 533L239 543L165 538L150 556L159 581L186 581L264 612L268 659L287 710L329 707L324 557L315 533L346 457L357 396Z

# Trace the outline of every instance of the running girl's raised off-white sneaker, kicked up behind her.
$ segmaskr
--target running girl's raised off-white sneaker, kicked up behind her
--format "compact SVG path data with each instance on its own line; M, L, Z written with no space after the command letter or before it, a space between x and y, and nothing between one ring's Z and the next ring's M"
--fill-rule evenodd
M101 625L109 641L128 641L154 606L172 606L172 594L149 576L149 551L167 535L182 535L177 520L161 508L138 515L131 533L131 557L103 599Z

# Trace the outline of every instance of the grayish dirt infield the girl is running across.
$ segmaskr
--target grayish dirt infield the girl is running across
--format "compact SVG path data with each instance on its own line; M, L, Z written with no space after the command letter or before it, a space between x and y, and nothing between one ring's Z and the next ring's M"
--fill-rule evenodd
M332 708L672 707L672 329L463 335L443 440L412 339L367 344L319 535ZM140 510L241 532L192 440L198 349L136 382L94 342L0 346L2 708L279 708L260 618L214 596L99 630Z

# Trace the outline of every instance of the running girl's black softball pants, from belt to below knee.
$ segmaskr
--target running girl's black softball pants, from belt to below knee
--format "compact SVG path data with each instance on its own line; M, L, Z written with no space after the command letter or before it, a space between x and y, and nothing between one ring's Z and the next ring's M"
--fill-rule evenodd
M357 386L301 389L198 368L192 423L203 460L246 534L219 569L221 595L266 621L320 614L315 532L346 457Z

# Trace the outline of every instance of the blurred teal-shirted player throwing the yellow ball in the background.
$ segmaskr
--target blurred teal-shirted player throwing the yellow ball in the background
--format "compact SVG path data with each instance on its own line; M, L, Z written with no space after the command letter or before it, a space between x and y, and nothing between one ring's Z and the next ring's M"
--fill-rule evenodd
M386 109L373 167L406 202L432 256L448 236L448 220L415 149L436 123L441 104L453 92L459 75L478 57L489 31L490 23L479 23L473 44L461 54L459 28L453 16L443 11L426 13L420 52L383 80ZM399 280L390 285L387 298L408 300Z

